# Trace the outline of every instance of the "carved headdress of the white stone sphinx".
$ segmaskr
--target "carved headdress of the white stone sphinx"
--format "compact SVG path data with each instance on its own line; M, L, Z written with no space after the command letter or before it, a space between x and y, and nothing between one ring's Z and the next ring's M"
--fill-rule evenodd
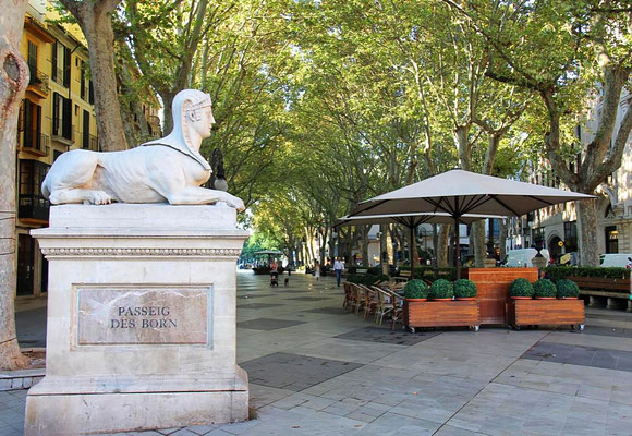
M181 90L173 97L171 104L173 116L173 130L171 133L160 140L149 141L143 145L163 145L174 148L198 161L204 169L210 170L210 165L208 165L206 159L199 154L199 150L191 143L187 129L190 122L200 120L199 111L207 106L211 106L208 94L197 89Z

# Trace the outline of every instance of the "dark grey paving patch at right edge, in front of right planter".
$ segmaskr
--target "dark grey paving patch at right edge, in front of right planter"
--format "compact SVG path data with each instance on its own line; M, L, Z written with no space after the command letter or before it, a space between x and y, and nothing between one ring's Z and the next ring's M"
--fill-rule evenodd
M632 372L631 351L538 342L523 358Z

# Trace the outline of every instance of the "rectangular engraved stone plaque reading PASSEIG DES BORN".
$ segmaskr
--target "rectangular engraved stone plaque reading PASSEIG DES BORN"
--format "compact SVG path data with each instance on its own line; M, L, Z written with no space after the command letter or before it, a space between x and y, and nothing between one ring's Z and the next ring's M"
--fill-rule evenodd
M80 287L77 344L206 344L210 287Z

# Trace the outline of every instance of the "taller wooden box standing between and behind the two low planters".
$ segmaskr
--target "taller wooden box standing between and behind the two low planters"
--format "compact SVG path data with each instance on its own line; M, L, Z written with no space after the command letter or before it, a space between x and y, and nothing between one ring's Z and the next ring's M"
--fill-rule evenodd
M467 269L467 278L476 283L481 324L507 324L506 303L509 298L509 286L521 277L533 283L537 280L537 268Z

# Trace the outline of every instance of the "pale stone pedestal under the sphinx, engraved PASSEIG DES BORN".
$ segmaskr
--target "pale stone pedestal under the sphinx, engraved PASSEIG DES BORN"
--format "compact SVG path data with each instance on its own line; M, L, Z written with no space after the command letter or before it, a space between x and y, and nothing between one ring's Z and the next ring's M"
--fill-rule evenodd
M64 205L34 230L49 261L46 377L25 435L247 419L235 361L235 263L222 206Z

